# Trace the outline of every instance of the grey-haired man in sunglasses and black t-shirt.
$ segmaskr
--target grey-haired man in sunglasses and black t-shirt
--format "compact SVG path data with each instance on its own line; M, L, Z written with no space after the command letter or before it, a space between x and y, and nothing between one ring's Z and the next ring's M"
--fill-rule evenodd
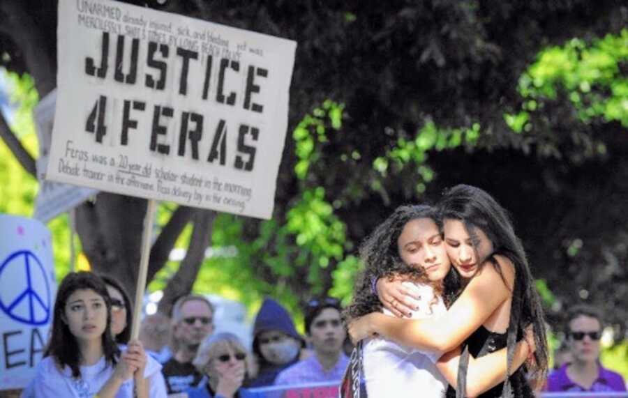
M195 387L202 374L192 365L198 346L214 332L214 305L203 296L188 295L172 308L172 358L163 365L168 394Z

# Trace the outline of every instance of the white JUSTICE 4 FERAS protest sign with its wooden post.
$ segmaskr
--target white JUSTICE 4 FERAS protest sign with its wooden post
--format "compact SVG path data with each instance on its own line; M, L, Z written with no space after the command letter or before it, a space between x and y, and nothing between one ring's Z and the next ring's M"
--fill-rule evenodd
M297 44L107 0L58 26L47 178L150 199L140 308L154 201L271 217Z

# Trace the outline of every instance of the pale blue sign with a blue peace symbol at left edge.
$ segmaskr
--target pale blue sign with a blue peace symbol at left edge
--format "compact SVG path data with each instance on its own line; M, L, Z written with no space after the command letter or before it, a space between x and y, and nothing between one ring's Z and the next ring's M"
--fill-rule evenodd
M0 390L10 390L35 376L57 288L51 236L41 222L0 215L0 234Z

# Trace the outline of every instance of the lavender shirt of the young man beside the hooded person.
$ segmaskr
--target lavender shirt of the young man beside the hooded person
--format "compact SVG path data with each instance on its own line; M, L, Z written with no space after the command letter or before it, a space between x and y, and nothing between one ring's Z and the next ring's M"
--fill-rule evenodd
M278 374L275 385L325 383L329 381L338 381L340 383L348 364L349 358L344 353L341 353L336 365L326 371L318 362L316 355L310 355L308 358L295 363Z

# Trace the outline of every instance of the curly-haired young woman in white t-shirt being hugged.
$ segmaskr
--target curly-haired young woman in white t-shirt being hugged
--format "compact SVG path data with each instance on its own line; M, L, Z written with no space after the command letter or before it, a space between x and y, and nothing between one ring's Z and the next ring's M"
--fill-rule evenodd
M456 281L456 271L444 248L436 212L430 206L400 206L360 247L364 273L359 277L354 298L345 318L380 311L382 304L373 295L371 282L396 276L406 289L420 299L414 319L438 317L447 312L451 297L443 296ZM384 309L384 314L392 316ZM520 366L530 348L516 347L515 363ZM456 385L460 350L442 355L438 350L416 350L382 338L368 338L364 344L364 373L369 397L443 397L447 382ZM470 395L478 395L502 382L507 370L507 351L472 359L468 378ZM441 359L439 359L441 358Z

